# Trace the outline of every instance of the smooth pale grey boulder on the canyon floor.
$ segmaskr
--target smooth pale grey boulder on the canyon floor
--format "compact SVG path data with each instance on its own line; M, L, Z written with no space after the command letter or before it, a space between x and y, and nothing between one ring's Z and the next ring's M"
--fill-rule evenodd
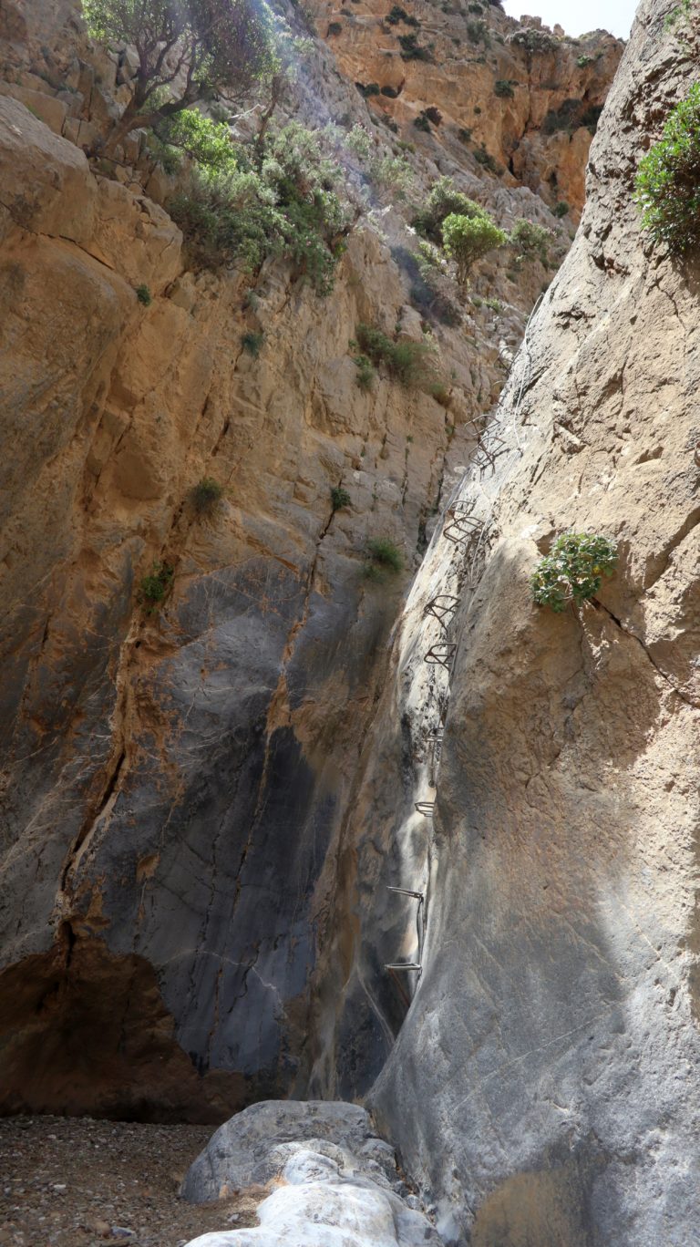
M260 1228L202 1235L191 1247L442 1247L427 1217L402 1198L393 1148L354 1105L246 1109L217 1130L182 1195L200 1203L252 1183L276 1187L258 1206Z

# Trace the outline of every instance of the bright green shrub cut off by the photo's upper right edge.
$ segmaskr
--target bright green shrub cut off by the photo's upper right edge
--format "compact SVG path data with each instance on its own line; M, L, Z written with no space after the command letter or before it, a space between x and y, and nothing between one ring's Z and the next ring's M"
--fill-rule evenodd
M636 173L635 202L641 227L671 254L700 242L700 82L676 104L661 138L643 157Z

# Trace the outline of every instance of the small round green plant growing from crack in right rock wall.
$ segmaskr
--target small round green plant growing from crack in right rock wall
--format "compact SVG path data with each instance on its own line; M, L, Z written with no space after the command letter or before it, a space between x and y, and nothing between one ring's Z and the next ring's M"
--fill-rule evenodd
M604 576L613 575L616 559L616 545L609 537L564 532L533 572L533 599L558 612L570 601L584 602L598 592Z

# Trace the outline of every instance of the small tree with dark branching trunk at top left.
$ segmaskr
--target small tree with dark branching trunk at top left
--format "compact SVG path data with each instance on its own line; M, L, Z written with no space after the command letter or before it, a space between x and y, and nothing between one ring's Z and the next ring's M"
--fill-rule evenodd
M253 0L82 0L87 29L134 44L134 94L106 140L152 127L197 100L248 99L277 69L270 9Z

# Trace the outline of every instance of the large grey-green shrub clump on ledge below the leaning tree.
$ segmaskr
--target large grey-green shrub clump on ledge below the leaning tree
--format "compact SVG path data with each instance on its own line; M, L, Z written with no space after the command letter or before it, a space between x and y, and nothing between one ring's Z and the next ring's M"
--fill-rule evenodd
M248 272L268 256L294 263L319 294L333 286L337 243L349 226L342 172L298 122L271 133L260 167L196 168L168 201L193 258L210 268L238 262Z

